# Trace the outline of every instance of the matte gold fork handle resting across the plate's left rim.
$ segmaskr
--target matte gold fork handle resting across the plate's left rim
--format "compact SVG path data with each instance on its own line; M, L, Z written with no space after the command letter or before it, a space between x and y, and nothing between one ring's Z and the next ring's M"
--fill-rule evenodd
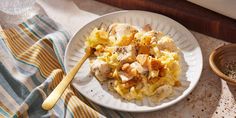
M52 93L44 100L42 108L44 110L50 110L57 103L58 99L61 97L67 86L71 83L74 76L89 57L89 53L85 53L82 59L76 63L76 65L69 71L69 73L61 80L61 82L56 86Z

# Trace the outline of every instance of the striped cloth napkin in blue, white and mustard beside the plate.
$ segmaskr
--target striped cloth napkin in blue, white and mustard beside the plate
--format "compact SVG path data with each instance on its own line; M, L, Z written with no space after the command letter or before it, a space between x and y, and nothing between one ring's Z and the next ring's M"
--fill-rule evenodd
M41 108L65 74L69 34L44 15L0 32L0 117L132 117L97 106L69 86L50 111Z

